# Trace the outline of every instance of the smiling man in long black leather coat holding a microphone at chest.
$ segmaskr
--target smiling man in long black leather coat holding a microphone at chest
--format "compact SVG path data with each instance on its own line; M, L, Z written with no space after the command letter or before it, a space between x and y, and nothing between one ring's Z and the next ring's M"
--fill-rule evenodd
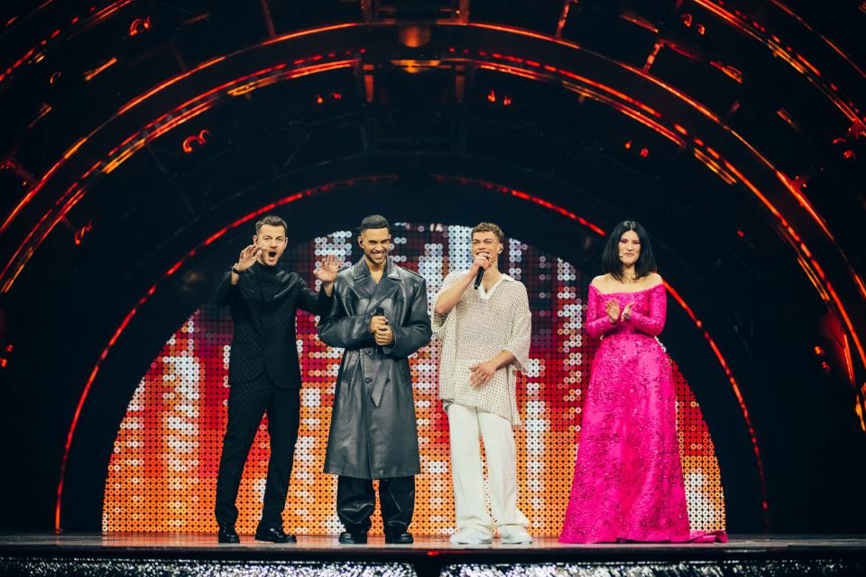
M385 542L409 544L420 463L408 357L430 340L427 285L388 258L382 216L364 218L358 243L364 258L337 275L331 310L318 324L322 341L345 349L325 472L338 475L340 543L366 543L378 479Z

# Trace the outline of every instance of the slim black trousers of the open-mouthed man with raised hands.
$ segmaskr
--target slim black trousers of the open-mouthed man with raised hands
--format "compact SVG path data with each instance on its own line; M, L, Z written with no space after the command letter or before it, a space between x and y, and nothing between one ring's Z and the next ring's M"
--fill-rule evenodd
M282 527L282 510L289 494L291 465L295 458L300 422L299 389L278 389L263 373L254 380L232 386L228 393L228 424L217 474L217 523L235 524L237 490L250 454L255 432L268 416L271 459L264 486L264 506L259 527Z

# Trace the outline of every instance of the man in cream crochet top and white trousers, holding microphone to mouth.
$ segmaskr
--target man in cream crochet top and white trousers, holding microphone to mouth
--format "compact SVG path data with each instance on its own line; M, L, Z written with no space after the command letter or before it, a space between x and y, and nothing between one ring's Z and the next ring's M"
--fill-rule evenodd
M532 318L526 287L499 270L502 229L481 223L472 229L473 263L452 270L433 308L433 331L442 340L439 398L448 415L451 476L457 532L453 545L493 541L531 543L529 520L517 508L517 371L526 371ZM484 270L481 284L476 275ZM484 439L490 508L484 499L479 440Z

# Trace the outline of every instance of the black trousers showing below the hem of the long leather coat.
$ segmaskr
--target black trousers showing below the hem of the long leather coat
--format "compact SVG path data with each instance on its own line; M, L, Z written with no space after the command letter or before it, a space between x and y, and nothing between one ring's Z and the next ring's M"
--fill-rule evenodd
M415 476L379 480L379 503L385 533L400 534L409 528L415 510ZM349 533L370 529L376 508L373 480L338 476L336 515Z

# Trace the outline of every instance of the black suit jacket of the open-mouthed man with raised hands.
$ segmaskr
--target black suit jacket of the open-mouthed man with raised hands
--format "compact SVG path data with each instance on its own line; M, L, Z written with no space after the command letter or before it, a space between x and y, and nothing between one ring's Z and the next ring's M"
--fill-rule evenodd
M264 265L256 263L232 285L228 271L217 289L217 305L231 307L235 321L228 384L253 380L267 371L280 389L299 389L295 313L300 308L324 315L331 307L331 298L324 290L318 295L310 290L297 272L277 270L271 279L264 277L267 274ZM263 291L265 282L276 283L276 287Z

